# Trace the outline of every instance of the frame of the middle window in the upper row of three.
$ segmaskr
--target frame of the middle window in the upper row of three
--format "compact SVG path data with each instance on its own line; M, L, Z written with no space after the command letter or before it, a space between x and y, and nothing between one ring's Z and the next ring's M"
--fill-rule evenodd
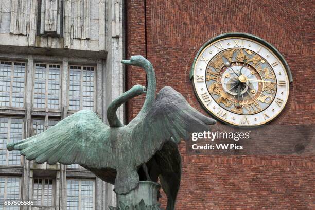
M42 65L46 65L46 79L45 79L45 108L37 108L34 107L34 95L35 93L35 74L36 74L36 64L42 64ZM52 109L48 107L48 80L49 80L49 65L59 65L60 67L60 75L59 75L59 103L58 103L58 108L57 109ZM62 64L60 63L51 63L51 62L34 62L33 65L33 78L32 78L32 84L33 84L33 88L32 88L32 102L31 102L31 107L32 110L34 111L43 111L46 110L46 108L49 111L60 111L61 109L61 95L62 95Z

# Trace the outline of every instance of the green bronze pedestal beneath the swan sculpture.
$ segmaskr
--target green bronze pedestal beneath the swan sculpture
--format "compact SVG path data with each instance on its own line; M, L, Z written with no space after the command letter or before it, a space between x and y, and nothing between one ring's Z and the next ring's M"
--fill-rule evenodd
M137 188L128 194L117 194L117 208L115 210L159 210L158 193L161 185L151 181L140 181ZM119 206L119 207L118 207Z

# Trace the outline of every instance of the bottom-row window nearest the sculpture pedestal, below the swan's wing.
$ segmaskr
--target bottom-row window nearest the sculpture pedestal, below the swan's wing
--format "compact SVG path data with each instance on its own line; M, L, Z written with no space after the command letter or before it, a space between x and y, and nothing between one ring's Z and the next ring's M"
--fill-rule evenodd
M67 210L94 209L94 181L67 179Z

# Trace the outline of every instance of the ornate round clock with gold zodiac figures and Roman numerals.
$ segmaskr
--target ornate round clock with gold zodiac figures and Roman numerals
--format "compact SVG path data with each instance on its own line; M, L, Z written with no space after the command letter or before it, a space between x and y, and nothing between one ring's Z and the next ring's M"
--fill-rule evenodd
M192 69L203 107L238 126L257 126L274 119L285 107L290 82L286 62L270 46L243 36L206 44Z

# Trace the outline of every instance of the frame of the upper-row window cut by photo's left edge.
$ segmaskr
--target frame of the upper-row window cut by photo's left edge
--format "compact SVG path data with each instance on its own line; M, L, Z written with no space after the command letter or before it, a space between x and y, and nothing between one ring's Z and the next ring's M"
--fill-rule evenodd
M13 110L25 110L25 100L26 100L26 79L27 79L27 62L25 61L18 61L18 60L0 60L0 62L11 62L11 79L10 79L10 98L9 98L9 106L2 107L0 109L13 109ZM15 63L24 63L25 65L25 72L24 72L24 92L23 92L23 106L22 107L12 107L12 92L13 92L13 78L14 78L14 64ZM22 78L22 77L19 77Z

